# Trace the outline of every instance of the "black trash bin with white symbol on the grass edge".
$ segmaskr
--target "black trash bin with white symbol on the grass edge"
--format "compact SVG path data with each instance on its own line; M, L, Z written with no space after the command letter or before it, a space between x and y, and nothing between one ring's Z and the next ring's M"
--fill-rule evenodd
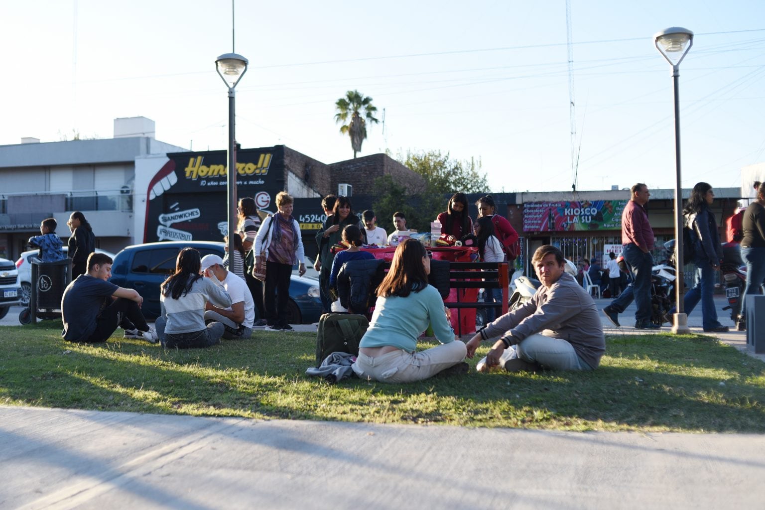
M38 317L54 319L61 317L61 297L72 279L72 259L44 262L31 259L32 292L29 300L32 322Z

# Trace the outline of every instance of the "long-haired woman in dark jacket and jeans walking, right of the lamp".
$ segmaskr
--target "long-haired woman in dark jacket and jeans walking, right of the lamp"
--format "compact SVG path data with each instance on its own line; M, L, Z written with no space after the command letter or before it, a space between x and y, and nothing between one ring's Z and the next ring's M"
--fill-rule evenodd
M709 206L715 200L715 192L710 184L701 182L693 187L691 197L682 210L685 226L695 232L695 255L693 264L696 266L696 284L685 293L683 307L685 313L691 314L693 309L702 302L702 325L704 330L712 333L724 333L728 326L723 326L717 317L715 307L715 271L720 268L722 248L715 213ZM682 271L682 268L678 268ZM675 313L673 309L670 313Z

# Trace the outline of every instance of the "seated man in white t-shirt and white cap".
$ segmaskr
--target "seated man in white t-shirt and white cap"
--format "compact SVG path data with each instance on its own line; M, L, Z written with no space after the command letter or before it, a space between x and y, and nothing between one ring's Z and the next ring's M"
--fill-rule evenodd
M225 327L223 338L249 338L252 336L252 323L255 322L255 301L242 278L223 268L223 259L218 255L205 255L202 258L202 272L207 278L220 281L231 296L231 306L219 308L207 303L204 321L220 322Z

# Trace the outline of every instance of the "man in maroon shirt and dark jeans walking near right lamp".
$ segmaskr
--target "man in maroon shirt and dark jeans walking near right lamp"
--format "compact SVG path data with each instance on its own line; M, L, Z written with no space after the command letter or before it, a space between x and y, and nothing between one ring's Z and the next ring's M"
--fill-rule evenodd
M630 306L633 299L637 305L635 328L637 330L656 330L658 324L651 321L651 271L653 270L653 229L648 223L646 205L651 197L648 187L643 183L632 187L632 198L624 206L622 213L622 245L624 261L632 271L633 292L624 291L620 297L611 301L603 309L608 320L614 326L621 327L619 314Z

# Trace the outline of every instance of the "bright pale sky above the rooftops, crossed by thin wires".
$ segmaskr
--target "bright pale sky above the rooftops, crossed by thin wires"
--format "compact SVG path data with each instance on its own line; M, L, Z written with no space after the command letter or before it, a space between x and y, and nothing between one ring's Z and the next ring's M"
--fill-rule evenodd
M569 5L570 47L565 0L239 0L234 16L231 0L0 2L0 145L111 138L113 119L142 115L160 141L225 149L215 60L235 50L249 59L243 148L353 158L334 102L358 89L380 121L360 156L474 158L495 192L672 188L672 68L653 35L681 26L695 33L679 77L683 187L740 187L741 167L765 161L765 2Z

